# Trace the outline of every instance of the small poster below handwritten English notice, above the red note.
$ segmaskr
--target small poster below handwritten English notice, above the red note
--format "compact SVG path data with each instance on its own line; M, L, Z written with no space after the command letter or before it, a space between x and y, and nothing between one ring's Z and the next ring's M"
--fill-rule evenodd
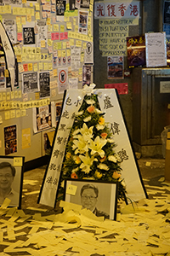
M123 56L107 57L107 79L123 79Z

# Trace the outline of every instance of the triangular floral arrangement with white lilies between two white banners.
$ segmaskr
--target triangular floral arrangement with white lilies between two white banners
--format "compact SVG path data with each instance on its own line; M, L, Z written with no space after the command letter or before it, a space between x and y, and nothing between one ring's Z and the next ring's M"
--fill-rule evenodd
M116 144L104 116L98 97L84 96L65 148L61 181L70 178L117 181L118 199L126 200L121 160L114 152Z

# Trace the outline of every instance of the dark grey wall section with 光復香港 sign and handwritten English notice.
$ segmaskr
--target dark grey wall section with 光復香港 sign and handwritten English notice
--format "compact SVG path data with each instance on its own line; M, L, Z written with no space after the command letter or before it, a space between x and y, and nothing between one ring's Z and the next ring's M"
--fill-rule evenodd
M127 37L142 34L144 1L94 2L94 84L116 88L132 136L132 82L127 66Z

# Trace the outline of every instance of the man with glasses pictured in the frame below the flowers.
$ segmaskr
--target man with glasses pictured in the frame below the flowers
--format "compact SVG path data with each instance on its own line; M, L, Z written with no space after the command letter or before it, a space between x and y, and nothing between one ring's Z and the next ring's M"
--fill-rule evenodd
M99 189L97 187L95 187L93 184L86 184L82 186L80 195L82 208L89 209L97 217L104 216L105 218L110 218L109 214L107 214L106 212L101 212L96 208L99 195Z

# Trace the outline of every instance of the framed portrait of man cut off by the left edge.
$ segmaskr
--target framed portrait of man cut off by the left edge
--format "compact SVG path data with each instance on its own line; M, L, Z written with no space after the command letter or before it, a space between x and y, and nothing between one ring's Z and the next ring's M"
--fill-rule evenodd
M0 206L8 198L8 207L21 207L24 157L0 156Z

